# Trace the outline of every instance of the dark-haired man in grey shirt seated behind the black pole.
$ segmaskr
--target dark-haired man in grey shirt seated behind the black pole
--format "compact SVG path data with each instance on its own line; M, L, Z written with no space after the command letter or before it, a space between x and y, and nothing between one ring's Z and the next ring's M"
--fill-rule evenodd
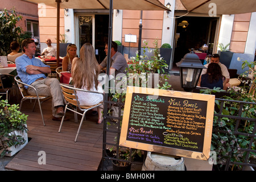
M126 62L125 57L120 53L117 52L117 43L112 41L111 45L111 51L110 51L110 75L117 76L118 73L125 73L126 74L126 68L128 68L128 64ZM108 43L105 44L105 50L106 55L108 55ZM108 56L105 57L105 59L102 61L102 63L99 65L99 70L102 68L105 68L108 63Z

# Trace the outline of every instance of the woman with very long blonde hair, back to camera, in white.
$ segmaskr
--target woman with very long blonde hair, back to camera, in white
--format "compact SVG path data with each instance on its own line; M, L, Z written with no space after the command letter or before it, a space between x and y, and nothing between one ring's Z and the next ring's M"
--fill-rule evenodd
M104 92L102 86L98 84L98 61L94 55L92 44L85 43L80 49L80 58L75 57L72 63L72 80L75 88ZM103 100L103 96L97 93L79 92L77 91L80 105L91 106L96 105ZM102 109L98 109L98 124L103 120Z

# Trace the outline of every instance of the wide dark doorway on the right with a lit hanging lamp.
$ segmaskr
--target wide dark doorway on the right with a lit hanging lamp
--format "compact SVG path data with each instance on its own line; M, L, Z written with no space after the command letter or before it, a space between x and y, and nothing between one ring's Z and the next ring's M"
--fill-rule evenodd
M175 21L175 40L172 71L177 71L176 63L179 62L186 53L193 49L196 52L212 54L214 46L217 44L218 18L183 16ZM208 49L202 50L202 46L207 44ZM201 60L203 61L203 60Z

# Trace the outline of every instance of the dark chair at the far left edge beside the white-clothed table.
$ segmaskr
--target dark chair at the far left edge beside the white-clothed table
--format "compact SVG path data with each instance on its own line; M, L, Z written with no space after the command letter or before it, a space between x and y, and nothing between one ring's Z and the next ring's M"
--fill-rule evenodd
M0 73L0 94L6 94L8 100L8 92L14 86L14 76L7 73Z

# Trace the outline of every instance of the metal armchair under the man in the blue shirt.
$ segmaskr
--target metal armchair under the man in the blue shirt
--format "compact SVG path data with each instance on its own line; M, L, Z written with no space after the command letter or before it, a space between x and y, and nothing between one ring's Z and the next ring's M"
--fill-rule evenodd
M22 100L20 101L19 110L22 107L23 101L30 99L30 100L35 100L35 103L34 103L34 106L33 106L33 110L32 110L32 111L34 111L35 110L36 101L38 101L40 113L41 113L42 119L43 119L43 125L46 126L46 123L44 123L44 116L43 116L41 104L42 104L42 102L46 101L44 99L49 99L51 97L50 96L38 96L38 92L36 92L36 89L34 88L34 86L25 84L24 82L22 82L22 80L20 80L19 76L15 76L14 79L17 82L17 85L18 85L18 88L20 90L20 93L22 94ZM28 94L27 93L27 89L24 88L25 85L28 86L28 87L31 87L32 89L34 89L35 93L36 93L36 96L31 96L30 94ZM42 101L40 102L40 100L42 100Z

